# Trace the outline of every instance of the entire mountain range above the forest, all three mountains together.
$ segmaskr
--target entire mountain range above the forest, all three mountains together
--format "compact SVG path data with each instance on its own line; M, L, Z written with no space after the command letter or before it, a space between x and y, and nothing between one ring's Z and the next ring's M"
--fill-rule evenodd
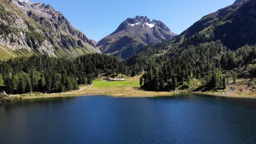
M203 16L179 35L159 20L136 16L126 19L100 41L94 41L74 28L51 5L30 0L3 0L0 2L1 57L43 53L74 58L96 52L126 59L146 45L164 41L162 47L170 50L215 40L236 50L245 44L255 44L254 3L253 0L236 0L226 8Z

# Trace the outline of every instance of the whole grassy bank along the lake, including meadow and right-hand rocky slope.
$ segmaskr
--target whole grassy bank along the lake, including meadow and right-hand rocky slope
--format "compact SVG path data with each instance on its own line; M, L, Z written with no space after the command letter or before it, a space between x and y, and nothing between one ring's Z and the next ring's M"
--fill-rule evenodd
M176 92L154 92L144 91L139 86L139 76L126 77L126 81L108 82L103 79L97 79L92 86L80 86L78 91L66 93L51 93L51 94L22 94L11 95L11 98L34 99L34 98L51 98L51 97L77 97L81 95L110 95L113 97L155 97L155 96L171 96L176 93L189 93L194 88L200 86L198 81L193 81L189 89L177 89ZM232 83L226 89L216 89L207 92L194 92L201 94L218 95L222 97L237 97L237 98L256 98L256 92L251 88L247 88L248 80L237 80L237 83ZM230 89L235 87L235 91ZM240 91L243 89L243 91Z

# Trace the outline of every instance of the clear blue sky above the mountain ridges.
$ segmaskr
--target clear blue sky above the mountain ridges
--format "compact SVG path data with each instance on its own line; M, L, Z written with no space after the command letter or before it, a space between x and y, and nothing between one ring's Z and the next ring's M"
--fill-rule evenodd
M128 17L148 16L181 33L202 16L235 0L32 0L52 5L90 39L100 40Z

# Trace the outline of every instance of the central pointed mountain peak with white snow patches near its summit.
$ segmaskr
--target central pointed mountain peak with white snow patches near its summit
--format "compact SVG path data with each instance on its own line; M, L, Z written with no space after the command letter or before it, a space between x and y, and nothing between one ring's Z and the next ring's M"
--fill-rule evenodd
M101 39L97 47L103 53L127 58L145 45L154 45L172 39L176 34L157 20L147 16L126 19L112 34Z

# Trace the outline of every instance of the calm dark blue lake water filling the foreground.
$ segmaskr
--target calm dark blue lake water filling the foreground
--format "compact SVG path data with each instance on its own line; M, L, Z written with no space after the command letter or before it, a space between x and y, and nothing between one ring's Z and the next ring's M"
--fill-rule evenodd
M256 101L198 95L0 105L0 143L256 143Z

